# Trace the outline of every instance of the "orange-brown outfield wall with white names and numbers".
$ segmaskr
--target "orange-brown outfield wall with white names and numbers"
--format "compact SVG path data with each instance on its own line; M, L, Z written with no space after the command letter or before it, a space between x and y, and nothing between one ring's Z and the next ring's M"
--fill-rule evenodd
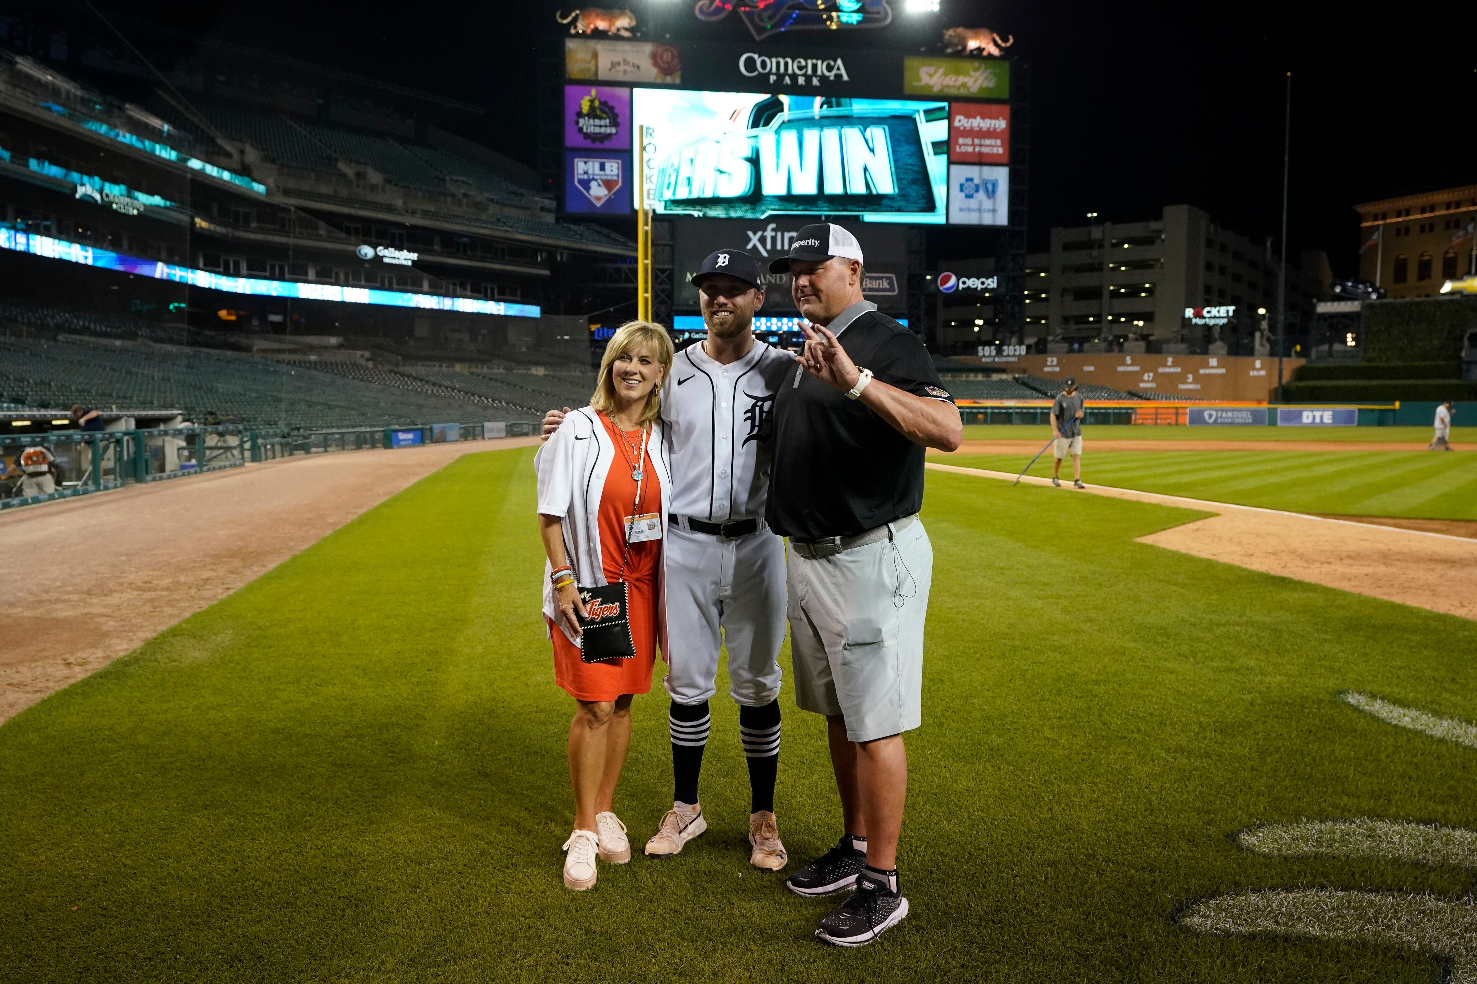
M956 356L1013 375L1046 379L1077 376L1077 382L1114 389L1162 392L1192 400L1267 403L1276 400L1278 360L1270 356L1152 356L1145 353L1074 353L1069 356ZM1291 379L1303 358L1284 358L1282 378Z

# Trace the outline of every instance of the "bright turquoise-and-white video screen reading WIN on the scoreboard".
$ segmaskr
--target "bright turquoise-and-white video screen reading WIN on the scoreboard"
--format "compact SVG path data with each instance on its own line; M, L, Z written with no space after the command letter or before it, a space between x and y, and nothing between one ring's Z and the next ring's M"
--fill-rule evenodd
M944 221L945 102L637 89L632 117L660 214Z

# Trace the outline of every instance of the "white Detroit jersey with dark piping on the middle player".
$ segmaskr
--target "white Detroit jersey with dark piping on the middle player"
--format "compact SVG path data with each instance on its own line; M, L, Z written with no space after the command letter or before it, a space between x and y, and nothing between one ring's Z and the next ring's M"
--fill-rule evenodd
M770 491L774 394L795 356L755 341L727 366L688 345L672 361L662 391L662 420L672 463L671 509L725 522L762 519Z

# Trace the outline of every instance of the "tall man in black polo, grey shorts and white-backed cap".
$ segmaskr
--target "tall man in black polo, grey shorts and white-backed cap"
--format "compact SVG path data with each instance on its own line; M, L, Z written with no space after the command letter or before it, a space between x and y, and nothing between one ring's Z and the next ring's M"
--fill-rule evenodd
M923 448L954 450L959 410L923 342L861 295L861 245L801 229L790 295L811 323L775 394L765 519L790 538L795 702L824 714L845 834L786 882L801 895L855 885L815 931L863 946L908 913L897 870L907 794L902 732L919 726L933 549L917 512Z

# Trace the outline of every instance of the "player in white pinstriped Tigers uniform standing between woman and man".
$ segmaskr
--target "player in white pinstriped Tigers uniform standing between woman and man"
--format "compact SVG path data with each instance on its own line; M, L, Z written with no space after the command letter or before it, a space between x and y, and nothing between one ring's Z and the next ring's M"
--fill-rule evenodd
M765 524L774 397L795 356L756 341L764 288L753 257L719 249L693 276L707 338L676 354L662 394L672 462L666 562L666 692L672 696L672 808L647 841L672 857L707 829L697 785L707 745L707 701L718 654L728 648L730 696L749 761L749 862L789 860L774 817L780 761L780 646L784 642L784 541ZM544 417L544 434L563 415Z

